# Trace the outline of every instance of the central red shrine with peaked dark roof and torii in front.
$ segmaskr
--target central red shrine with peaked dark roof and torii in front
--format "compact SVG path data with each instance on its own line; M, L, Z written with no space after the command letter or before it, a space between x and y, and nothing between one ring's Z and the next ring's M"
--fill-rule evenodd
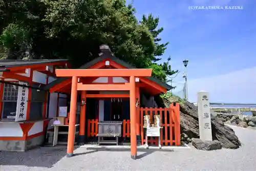
M141 96L154 97L166 93L172 86L151 77L152 69L135 69L115 57L107 45L100 46L100 51L99 57L79 69L56 70L56 76L60 78L44 89L50 93L71 94L68 157L73 155L75 116L80 114L77 120L80 124L79 142L84 142L86 137L96 140L99 136L122 136L131 143L131 157L135 159L137 144L140 140L143 143ZM77 95L81 98L77 99ZM150 107L151 103L146 102L145 106ZM102 129L109 125L113 128L111 131Z

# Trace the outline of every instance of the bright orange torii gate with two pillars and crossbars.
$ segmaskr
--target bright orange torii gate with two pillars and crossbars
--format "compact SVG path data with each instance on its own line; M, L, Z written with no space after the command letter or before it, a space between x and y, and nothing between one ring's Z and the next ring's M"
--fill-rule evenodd
M73 156L74 137L76 122L77 91L82 91L82 96L86 97L86 91L105 90L105 91L130 91L130 118L131 118L131 158L137 156L136 138L136 86L135 77L150 77L152 69L57 69L57 77L72 77L70 119L68 133L67 157ZM79 77L130 77L129 83L124 84L82 84L78 83ZM82 122L85 122L85 110ZM81 122L81 121L80 121ZM82 123L84 125L85 123ZM80 126L82 126L80 125Z

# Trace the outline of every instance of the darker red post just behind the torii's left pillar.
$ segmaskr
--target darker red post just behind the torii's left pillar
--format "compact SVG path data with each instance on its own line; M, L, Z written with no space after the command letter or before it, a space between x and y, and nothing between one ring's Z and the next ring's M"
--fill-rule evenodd
M86 103L86 91L81 93L81 103ZM80 130L79 130L79 144L83 145L86 135L86 104L80 106Z

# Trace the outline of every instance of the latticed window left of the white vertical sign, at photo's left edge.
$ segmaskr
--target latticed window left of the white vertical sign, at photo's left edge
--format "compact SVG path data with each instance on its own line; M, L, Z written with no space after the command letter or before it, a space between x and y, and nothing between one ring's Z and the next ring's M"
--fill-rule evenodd
M2 119L15 120L18 99L18 87L4 84Z

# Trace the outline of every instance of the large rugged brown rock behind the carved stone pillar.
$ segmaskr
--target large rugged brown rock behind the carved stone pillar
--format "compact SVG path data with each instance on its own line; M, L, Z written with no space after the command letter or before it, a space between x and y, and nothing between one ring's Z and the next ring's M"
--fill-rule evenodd
M181 124L181 139L188 139L184 142L191 141L191 138L199 138L198 110L197 106L190 102L181 102L179 98L163 99L163 108L168 108L173 102L180 103L180 124ZM235 122L236 123L236 122ZM218 140L222 147L236 149L241 146L241 142L234 131L218 117L211 118L212 139ZM186 137L183 137L186 135Z

